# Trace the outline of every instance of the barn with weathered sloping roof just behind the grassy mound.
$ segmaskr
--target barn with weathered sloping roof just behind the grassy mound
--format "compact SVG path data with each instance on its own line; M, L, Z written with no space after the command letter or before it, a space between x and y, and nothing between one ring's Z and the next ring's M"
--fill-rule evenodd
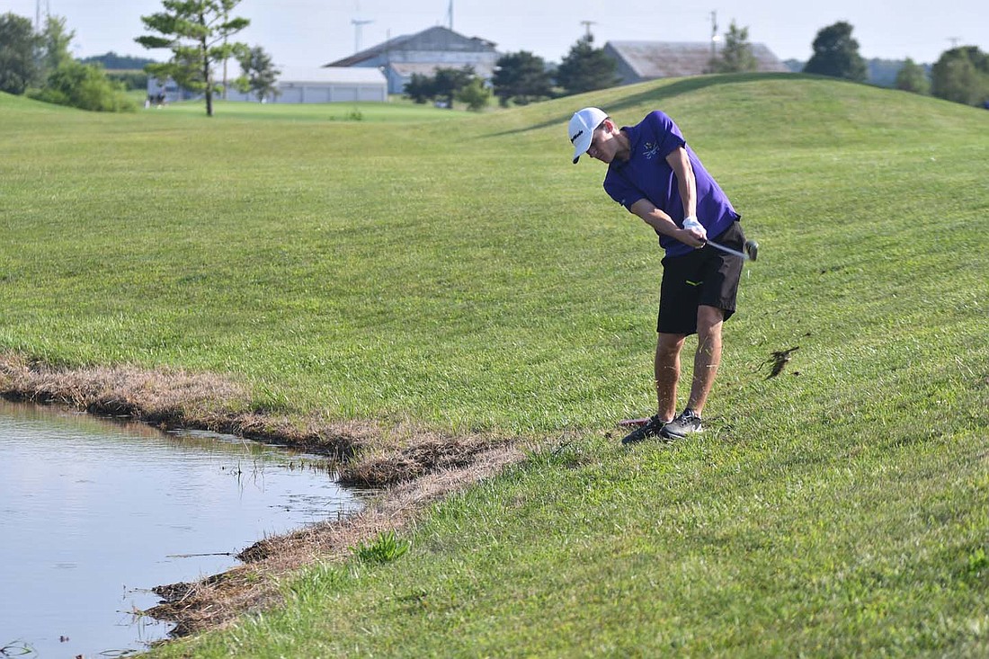
M700 75L711 70L711 45L703 42L608 42L603 49L618 62L616 72L621 78L619 84L623 85L657 78ZM752 53L756 57L758 71L789 71L786 64L764 44L753 44Z

